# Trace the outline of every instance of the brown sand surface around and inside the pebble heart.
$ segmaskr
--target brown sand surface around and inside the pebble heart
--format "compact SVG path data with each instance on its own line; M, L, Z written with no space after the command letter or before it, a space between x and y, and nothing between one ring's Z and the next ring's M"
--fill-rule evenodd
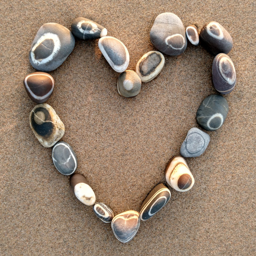
M210 134L206 152L187 158L194 187L171 189L170 202L122 244L110 224L81 204L69 177L54 168L51 149L29 126L35 103L23 78L35 70L28 52L37 30L56 22L70 29L82 16L102 24L130 53L128 69L154 47L149 32L162 12L184 26L215 20L230 32L228 54L237 84L226 99L224 125ZM206 1L1 1L0 6L0 254L20 255L255 255L256 5L253 0ZM67 60L49 72L56 86L47 101L66 127L63 140L78 158L97 197L115 214L139 210L168 160L179 154L196 111L212 85L214 56L188 43L184 54L166 56L162 72L134 99L122 98L118 73L97 40L76 40Z

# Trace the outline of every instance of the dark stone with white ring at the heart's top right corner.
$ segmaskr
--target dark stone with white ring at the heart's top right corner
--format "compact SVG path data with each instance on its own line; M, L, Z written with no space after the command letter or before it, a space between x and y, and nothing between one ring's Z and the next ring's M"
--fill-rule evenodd
M233 40L228 31L220 23L211 21L206 23L200 31L201 44L214 55L228 54L233 47Z

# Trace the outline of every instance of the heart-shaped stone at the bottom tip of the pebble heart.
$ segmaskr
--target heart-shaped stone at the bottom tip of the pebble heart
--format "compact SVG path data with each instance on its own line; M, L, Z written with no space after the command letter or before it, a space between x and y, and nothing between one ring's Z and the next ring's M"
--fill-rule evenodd
M134 238L140 227L139 213L134 210L120 213L113 218L111 227L116 238L127 243Z

